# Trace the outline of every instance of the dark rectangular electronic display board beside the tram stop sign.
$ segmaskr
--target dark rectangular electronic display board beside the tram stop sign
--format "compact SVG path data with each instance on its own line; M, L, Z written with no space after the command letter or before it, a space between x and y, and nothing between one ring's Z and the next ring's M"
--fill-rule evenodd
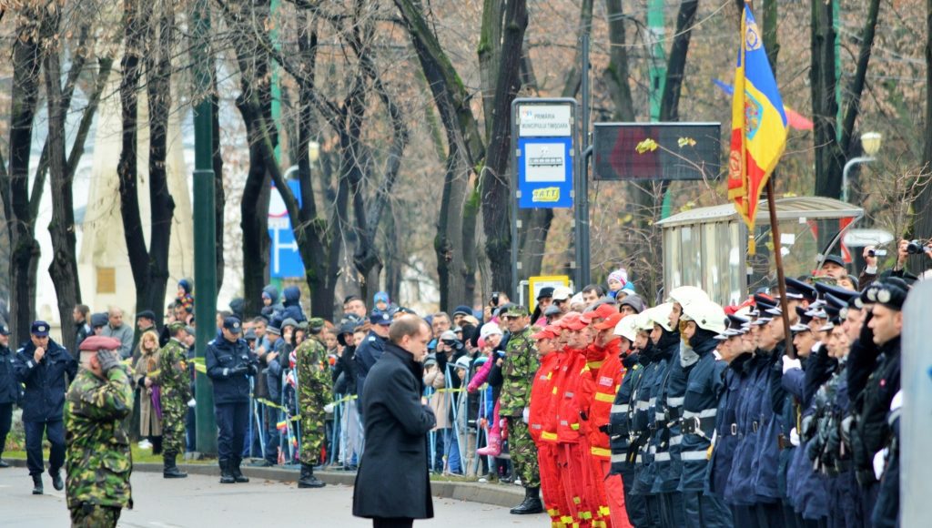
M714 179L721 123L596 123L593 151L596 180Z

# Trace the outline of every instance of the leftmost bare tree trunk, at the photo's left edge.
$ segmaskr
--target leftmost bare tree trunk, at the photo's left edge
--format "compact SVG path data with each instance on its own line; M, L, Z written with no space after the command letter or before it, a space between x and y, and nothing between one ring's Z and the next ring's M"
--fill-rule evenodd
M33 120L39 91L42 51L37 26L41 12L25 12L18 18L13 39L13 90L10 94L9 174L0 186L3 192L7 229L12 247L10 272L12 296L9 327L11 342L25 340L35 317L35 271L39 244L35 242L34 216L29 209L29 157L33 143ZM41 192L41 189L38 189Z

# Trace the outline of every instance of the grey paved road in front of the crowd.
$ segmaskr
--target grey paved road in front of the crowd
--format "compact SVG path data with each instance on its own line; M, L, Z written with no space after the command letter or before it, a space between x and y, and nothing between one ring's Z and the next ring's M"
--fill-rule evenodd
M391 485L391 484L390 484ZM327 486L298 490L294 483L253 479L248 484L221 485L216 478L198 475L162 479L137 472L132 476L135 508L123 510L120 526L168 528L176 526L372 526L350 514L352 489ZM0 469L0 525L18 528L58 528L70 525L64 492L56 492L48 475L46 494L34 496L32 480L21 467ZM508 508L433 499L435 518L415 526L458 528L475 526L547 526L541 514L510 515ZM287 513L286 513L287 510Z

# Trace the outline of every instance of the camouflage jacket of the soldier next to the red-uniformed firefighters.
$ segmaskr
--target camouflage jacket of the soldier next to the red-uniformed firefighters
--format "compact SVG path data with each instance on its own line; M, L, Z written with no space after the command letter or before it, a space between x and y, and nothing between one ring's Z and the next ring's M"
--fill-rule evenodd
M534 373L540 365L537 350L530 340L530 327L513 334L505 347L501 364L501 396L499 412L502 416L521 416L528 406Z

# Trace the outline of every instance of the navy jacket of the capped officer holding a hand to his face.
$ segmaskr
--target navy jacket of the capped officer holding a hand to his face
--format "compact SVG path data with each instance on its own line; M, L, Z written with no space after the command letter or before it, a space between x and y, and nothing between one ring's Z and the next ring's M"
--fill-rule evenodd
M77 374L77 362L62 345L48 340L45 356L38 364L33 359L32 341L17 351L16 377L26 385L22 399L23 422L57 422L62 420L64 393ZM67 380L65 374L68 375Z

